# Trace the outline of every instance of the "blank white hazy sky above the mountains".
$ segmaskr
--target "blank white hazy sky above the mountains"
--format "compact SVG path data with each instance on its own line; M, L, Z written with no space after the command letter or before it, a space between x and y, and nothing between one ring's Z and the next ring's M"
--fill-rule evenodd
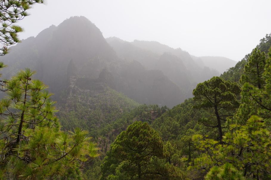
M47 0L21 20L21 39L71 16L85 16L103 36L158 41L195 56L239 61L271 33L270 0Z

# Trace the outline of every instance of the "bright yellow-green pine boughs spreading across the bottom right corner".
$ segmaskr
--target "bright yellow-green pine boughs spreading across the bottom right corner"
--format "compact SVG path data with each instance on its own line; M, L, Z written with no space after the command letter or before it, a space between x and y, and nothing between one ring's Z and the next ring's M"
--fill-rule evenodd
M231 124L224 144L202 135L193 135L192 140L200 151L193 167L208 170L206 179L230 178L228 171L230 176L222 175L227 163L236 169L238 178L241 173L247 178L270 179L270 131L260 117L251 116L245 125Z

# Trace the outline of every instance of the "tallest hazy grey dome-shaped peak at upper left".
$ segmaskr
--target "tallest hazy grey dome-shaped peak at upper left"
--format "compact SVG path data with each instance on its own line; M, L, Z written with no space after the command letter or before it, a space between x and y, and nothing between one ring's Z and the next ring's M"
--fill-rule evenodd
M84 17L72 17L12 47L2 61L13 70L7 69L3 74L10 76L18 69L30 67L37 70L37 78L58 94L67 85L71 60L80 72L95 59L106 64L115 61L117 56L93 23ZM90 72L88 75L97 77L99 74Z

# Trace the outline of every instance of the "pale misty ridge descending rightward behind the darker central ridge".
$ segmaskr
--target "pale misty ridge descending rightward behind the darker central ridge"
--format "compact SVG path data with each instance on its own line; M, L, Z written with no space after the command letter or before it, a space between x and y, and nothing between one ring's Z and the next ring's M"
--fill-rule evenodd
M106 39L117 56L125 61L138 61L148 70L161 70L171 81L182 89L185 97L192 97L196 84L219 75L180 49L174 49L155 41L127 42L117 37Z

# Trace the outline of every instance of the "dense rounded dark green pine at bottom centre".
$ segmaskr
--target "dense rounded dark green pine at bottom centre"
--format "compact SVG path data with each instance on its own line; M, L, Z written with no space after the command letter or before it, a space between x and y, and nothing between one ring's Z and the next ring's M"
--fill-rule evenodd
M111 144L101 166L101 179L187 179L167 162L173 150L169 146L163 148L162 139L148 123L135 121Z

